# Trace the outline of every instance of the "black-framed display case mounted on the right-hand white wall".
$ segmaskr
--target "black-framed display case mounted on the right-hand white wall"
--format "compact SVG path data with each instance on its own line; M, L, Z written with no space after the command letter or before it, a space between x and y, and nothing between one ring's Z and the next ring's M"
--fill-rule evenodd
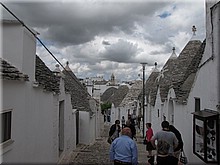
M193 153L206 163L219 163L219 114L203 110L193 114Z

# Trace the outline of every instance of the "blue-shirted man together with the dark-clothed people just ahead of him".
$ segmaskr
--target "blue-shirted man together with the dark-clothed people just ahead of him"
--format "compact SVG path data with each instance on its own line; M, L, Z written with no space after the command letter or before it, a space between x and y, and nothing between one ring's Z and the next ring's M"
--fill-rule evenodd
M137 146L133 139L136 140L136 129L131 118L125 122L122 118L122 130L120 120L116 120L115 124L110 127L109 137L112 138L110 147L110 160L114 161L114 165L137 164ZM119 134L121 133L121 136Z

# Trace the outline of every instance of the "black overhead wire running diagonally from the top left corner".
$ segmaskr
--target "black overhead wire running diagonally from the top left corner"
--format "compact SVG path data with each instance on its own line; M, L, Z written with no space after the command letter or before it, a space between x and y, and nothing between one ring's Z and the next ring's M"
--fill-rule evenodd
M65 67L60 63L60 61L53 55L53 53L46 47L46 45L36 36L36 34L28 27L24 24L23 21L21 21L12 11L10 11L2 2L0 2L1 5L5 8L5 10L7 10L13 17L15 17L22 26L24 26L39 42L40 44L47 50L47 52L60 64L60 66L70 75L70 77L74 80L75 78L72 76L72 74L70 74ZM76 81L80 86L82 86L82 84L79 81Z

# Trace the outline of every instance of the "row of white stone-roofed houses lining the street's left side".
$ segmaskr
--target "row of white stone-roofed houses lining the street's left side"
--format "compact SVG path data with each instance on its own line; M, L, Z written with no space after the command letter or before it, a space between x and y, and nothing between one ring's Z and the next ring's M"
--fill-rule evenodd
M67 90L68 76L55 76L36 56L36 39L24 26L3 21L1 28L1 162L58 163L78 143L88 144L99 136L98 105L89 104L88 95L82 96L86 98L82 103L75 99L79 107L75 105L73 91ZM85 101L90 121L86 127L95 133L80 131L84 124L80 106Z

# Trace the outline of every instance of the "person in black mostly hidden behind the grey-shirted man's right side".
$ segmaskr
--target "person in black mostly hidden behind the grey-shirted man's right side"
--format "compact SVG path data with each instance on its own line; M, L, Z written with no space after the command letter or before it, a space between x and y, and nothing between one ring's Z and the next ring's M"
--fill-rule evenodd
M178 145L174 149L174 156L176 158L179 158L181 151L183 151L183 140L182 140L181 133L173 125L169 126L169 130L175 134L178 140Z

